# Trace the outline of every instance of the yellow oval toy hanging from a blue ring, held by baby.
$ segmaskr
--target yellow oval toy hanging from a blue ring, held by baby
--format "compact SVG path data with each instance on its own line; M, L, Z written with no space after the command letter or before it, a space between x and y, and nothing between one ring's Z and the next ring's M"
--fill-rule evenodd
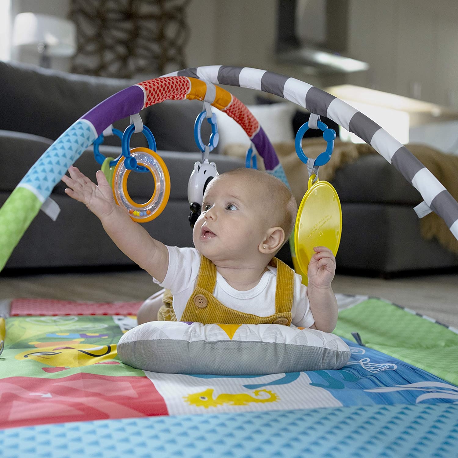
M302 150L302 137L309 128L308 122L301 126L295 141L296 153L309 171L308 189L300 202L294 227L294 270L302 275L305 285L308 283L307 267L315 254L313 248L326 246L335 256L342 234L342 208L337 192L331 183L318 179L319 167L331 158L336 133L319 120L317 127L323 131L327 148L316 159L307 158Z

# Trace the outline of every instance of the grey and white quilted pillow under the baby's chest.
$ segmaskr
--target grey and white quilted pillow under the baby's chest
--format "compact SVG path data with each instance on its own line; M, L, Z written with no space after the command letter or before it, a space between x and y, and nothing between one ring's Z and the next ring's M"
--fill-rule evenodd
M125 333L118 355L143 371L264 375L340 369L350 350L338 336L315 329L153 321Z

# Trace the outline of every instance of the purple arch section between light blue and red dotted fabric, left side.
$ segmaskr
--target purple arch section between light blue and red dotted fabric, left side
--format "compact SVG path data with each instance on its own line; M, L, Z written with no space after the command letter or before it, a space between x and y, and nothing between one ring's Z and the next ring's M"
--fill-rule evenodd
M144 93L141 87L126 87L100 102L84 114L81 119L91 121L97 135L100 135L114 121L139 113L143 108L143 98Z

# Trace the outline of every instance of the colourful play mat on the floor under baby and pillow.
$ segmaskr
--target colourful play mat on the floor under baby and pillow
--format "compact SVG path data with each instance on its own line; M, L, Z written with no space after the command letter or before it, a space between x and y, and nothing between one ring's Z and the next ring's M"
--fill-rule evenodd
M338 301L348 364L263 376L124 365L116 344L140 303L0 301L0 456L453 456L458 331L385 300Z

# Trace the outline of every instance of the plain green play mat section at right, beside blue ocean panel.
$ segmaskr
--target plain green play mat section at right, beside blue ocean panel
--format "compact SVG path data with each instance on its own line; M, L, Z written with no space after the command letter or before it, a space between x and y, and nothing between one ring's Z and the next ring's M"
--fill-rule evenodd
M339 312L334 333L458 385L458 334L438 323L371 298Z

